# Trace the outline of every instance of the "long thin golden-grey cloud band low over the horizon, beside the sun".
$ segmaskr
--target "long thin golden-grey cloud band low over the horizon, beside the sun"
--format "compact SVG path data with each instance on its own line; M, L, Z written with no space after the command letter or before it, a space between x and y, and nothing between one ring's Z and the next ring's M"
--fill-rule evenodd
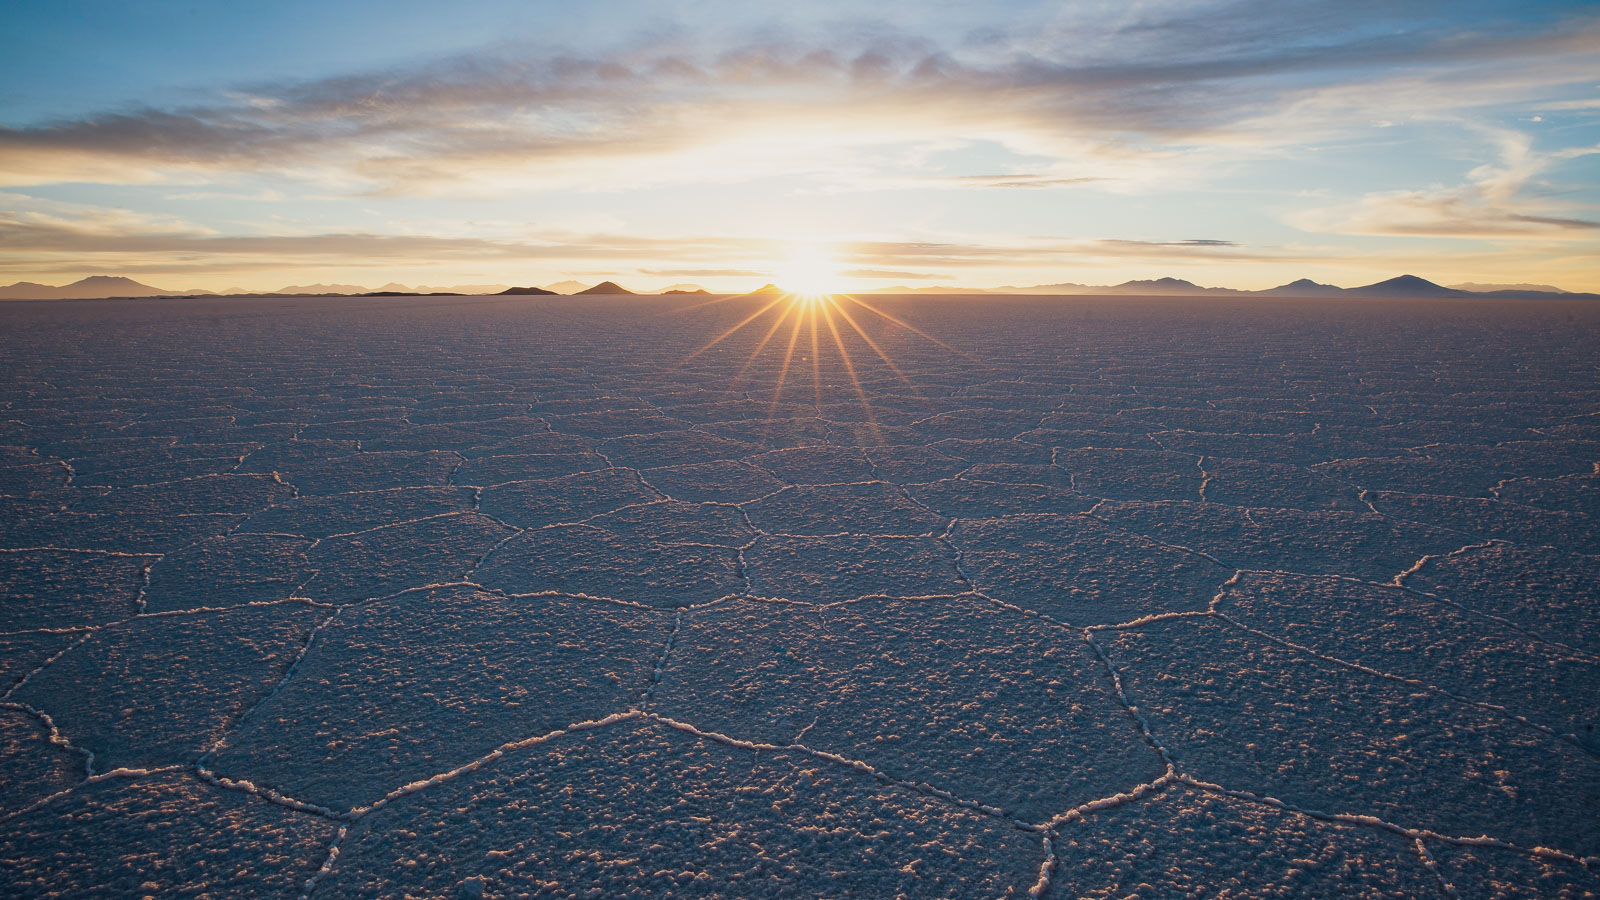
M10 208L6 208L10 207ZM438 223L440 232L450 223ZM174 218L43 202L0 194L0 267L83 271L232 271L299 267L395 267L472 264L515 271L525 264L626 266L648 277L771 277L792 248L741 235L654 237L621 232L522 229L501 237L470 234L216 234ZM1221 239L1128 240L1011 237L981 240L842 240L830 247L850 277L933 280L949 271L1046 267L1106 259L1293 261L1318 258L1294 248L1245 247ZM502 275L496 275L502 277Z

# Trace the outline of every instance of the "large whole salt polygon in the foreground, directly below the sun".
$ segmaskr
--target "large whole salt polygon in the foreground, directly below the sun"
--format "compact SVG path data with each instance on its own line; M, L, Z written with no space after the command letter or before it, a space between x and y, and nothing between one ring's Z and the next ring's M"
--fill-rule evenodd
M653 709L766 743L810 721L803 746L1024 822L1162 773L1088 647L976 597L691 612Z

